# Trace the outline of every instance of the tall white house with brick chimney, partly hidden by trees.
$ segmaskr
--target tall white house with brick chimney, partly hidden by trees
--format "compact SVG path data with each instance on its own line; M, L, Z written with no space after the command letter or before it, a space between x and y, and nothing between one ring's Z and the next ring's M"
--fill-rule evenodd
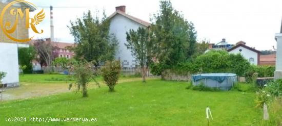
M137 30L139 27L149 28L150 23L126 14L126 6L119 6L115 9L116 11L109 16L111 20L110 34L114 34L119 42L115 58L121 61L122 67L132 68L137 63L131 55L130 49L125 46L125 43L127 43L126 32L130 29Z

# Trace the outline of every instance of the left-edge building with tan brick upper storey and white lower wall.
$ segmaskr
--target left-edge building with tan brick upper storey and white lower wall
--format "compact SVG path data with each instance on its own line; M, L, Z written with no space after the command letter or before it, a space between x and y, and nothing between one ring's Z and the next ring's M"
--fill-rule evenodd
M0 10L2 10L4 6L6 6L10 2L12 1L0 1ZM13 8L19 7L23 9L30 8L31 12L35 10L35 8L33 8L32 6L24 3L13 5L7 10L3 23L8 20L11 21L11 23L14 23L16 16L12 16L11 14L8 14L8 12L10 12L10 10ZM24 15L23 19L18 20L16 31L10 34L14 38L26 39L29 37L28 29L25 28L25 17L26 15ZM17 48L22 45L26 47L25 44L15 43L15 41L9 39L3 33L3 31L0 30L0 71L7 73L2 82L4 84L8 84L8 87L15 87L19 85Z

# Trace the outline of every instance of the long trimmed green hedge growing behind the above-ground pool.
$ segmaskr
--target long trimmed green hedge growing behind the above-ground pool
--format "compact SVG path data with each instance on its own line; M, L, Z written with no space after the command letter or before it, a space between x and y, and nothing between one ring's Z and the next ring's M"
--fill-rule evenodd
M240 54L229 54L224 50L211 50L198 56L195 60L178 63L174 70L189 71L190 73L231 72L243 76L250 67L248 60Z

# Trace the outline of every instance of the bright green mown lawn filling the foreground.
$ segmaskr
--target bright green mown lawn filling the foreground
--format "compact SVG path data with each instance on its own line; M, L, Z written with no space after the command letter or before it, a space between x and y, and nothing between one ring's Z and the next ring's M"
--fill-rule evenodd
M27 76L26 76L27 77ZM23 78L22 78L23 79ZM37 78L39 80L39 77ZM261 109L254 108L254 93L200 92L185 89L187 82L149 80L124 82L89 90L0 103L0 125L257 125ZM5 122L6 117L27 117L27 122ZM96 122L29 122L38 118L97 118Z

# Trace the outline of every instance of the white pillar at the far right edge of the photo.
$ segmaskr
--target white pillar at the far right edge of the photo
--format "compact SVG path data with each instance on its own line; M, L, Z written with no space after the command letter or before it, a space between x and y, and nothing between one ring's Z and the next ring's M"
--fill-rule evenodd
M282 79L282 24L280 33L275 34L276 46L276 69L274 72L274 79Z

